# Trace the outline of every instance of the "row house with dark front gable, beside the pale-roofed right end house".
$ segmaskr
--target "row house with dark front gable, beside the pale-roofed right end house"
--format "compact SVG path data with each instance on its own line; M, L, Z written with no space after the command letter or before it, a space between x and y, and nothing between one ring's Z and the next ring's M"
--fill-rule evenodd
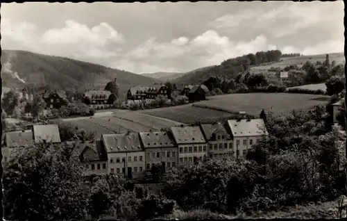
M201 131L208 141L208 155L212 158L234 156L232 138L223 124L201 124Z

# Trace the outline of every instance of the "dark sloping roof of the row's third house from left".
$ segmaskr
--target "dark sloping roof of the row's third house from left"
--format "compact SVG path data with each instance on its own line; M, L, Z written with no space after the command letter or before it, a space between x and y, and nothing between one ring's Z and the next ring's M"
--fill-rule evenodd
M139 133L144 148L148 147L174 147L174 140L164 131Z

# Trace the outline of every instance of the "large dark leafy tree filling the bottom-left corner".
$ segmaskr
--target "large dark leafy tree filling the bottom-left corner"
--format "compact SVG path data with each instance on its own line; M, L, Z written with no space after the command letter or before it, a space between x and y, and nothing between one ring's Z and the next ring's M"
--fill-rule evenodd
M3 170L6 219L84 218L84 169L76 149L43 143L14 154Z

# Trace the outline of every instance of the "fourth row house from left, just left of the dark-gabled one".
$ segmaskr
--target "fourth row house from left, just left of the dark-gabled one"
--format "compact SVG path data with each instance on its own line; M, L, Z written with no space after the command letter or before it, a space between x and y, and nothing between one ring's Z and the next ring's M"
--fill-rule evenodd
M207 143L198 126L171 127L171 133L178 145L178 165L203 160L207 156Z

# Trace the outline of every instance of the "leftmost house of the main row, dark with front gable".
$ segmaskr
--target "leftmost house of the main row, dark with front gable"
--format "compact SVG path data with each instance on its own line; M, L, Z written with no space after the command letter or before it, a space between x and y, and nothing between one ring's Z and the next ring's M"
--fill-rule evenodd
M69 142L69 145L78 147L85 175L108 174L108 156L101 140Z

